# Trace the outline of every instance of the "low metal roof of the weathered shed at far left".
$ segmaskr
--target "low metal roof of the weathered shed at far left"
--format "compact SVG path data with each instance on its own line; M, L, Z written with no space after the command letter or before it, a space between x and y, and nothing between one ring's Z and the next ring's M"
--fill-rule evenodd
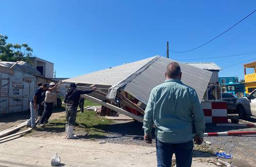
M19 62L3 62L0 61L0 66L8 68L8 69L14 69L19 72L24 72L31 75L40 75L41 73L32 67L27 62L19 61Z

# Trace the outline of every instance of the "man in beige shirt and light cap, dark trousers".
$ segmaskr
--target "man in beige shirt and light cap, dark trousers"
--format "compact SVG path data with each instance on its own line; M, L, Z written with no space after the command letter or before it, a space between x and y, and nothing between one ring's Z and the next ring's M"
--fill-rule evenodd
M54 82L51 82L49 85L49 89L46 91L44 113L42 113L41 121L39 122L41 127L45 126L45 124L48 122L49 118L52 115L53 103L57 98L57 85L58 84L55 85Z

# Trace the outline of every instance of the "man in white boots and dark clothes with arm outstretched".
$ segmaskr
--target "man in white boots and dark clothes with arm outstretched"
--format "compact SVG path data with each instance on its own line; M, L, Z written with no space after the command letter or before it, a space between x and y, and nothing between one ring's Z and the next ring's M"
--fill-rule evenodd
M91 91L83 91L76 89L74 83L70 84L70 88L65 94L64 102L66 103L66 138L76 138L76 135L73 135L74 126L76 123L76 113L77 107L79 104L79 98L81 94L89 94L96 90L96 87L92 88Z

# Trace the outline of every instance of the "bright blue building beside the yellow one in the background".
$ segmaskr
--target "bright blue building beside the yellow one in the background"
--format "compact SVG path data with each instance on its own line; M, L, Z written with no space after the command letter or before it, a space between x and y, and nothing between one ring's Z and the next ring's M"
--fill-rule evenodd
M221 92L226 92L233 95L245 93L244 84L239 83L238 77L219 77L219 82L221 84Z

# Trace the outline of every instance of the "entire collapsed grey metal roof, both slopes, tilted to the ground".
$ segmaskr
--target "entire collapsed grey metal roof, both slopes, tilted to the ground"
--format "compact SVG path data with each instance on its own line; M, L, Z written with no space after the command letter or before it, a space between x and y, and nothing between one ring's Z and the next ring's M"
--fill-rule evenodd
M177 61L155 56L63 81L80 84L109 85L111 88L109 88L109 92L106 95L107 98L113 100L119 90L124 90L144 104L147 104L151 90L157 85L162 84L165 80L166 66L171 62ZM207 89L211 72L181 62L178 63L182 71L181 81L187 86L194 88L201 101Z

